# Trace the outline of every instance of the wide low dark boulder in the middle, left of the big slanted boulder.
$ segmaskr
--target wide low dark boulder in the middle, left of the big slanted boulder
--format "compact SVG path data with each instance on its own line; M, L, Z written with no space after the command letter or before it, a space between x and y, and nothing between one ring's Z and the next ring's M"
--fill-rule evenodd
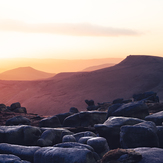
M89 127L94 124L103 123L106 120L106 112L88 111L73 114L67 117L63 126L65 127Z

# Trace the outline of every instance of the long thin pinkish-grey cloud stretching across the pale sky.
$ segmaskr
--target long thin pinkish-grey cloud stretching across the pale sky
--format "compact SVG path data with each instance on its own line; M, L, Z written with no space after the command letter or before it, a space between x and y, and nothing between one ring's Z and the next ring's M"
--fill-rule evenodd
M131 29L104 27L89 23L47 23L26 24L11 19L0 20L1 31L15 31L25 33L51 33L72 36L136 36L140 33Z

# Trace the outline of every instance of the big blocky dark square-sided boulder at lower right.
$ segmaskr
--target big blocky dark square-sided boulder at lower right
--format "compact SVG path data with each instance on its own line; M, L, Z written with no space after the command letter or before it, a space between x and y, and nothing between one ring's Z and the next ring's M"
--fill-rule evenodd
M122 148L159 147L156 125L149 121L122 126L120 142Z

